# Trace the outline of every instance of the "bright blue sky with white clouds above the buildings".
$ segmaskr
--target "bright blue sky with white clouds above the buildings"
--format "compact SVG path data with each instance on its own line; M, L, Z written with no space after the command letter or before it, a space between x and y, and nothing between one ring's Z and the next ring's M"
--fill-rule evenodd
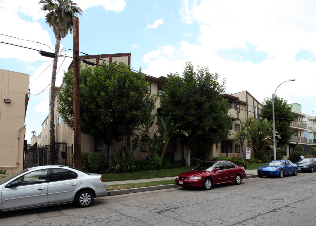
M48 116L55 36L38 0L0 0L0 68L29 74L26 136ZM247 90L263 103L278 97L316 115L316 1L73 0L79 50L89 55L131 53L131 67L154 77L182 74L186 62L226 80L226 92ZM72 34L60 55L72 56ZM83 54L80 54L83 55ZM56 86L71 58L58 58ZM295 79L292 82L285 82ZM281 86L279 86L283 83ZM279 86L279 87L278 87Z

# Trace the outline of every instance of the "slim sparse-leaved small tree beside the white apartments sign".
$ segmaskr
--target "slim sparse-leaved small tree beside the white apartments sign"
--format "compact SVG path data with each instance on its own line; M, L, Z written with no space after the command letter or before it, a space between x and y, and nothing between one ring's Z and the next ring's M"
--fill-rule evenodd
M235 142L236 144L240 145L241 149L241 160L244 161L244 142L245 140L251 139L251 134L248 133L248 128L251 128L254 125L254 119L253 117L247 118L245 120L238 119L240 122L239 130L235 131L234 134L234 140L238 140L238 142Z

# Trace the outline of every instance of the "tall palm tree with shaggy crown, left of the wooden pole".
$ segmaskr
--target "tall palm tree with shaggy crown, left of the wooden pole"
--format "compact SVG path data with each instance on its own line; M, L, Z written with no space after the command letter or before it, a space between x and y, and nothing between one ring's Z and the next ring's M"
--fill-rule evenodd
M40 0L39 4L43 4L41 10L48 11L45 16L46 23L49 27L53 28L53 32L56 38L55 54L58 55L60 40L65 38L72 32L72 17L79 14L82 15L82 10L70 0ZM54 108L55 108L55 80L57 71L58 56L55 56L52 72L51 83L51 99L50 99L50 147L51 150L55 150L55 120L54 120Z

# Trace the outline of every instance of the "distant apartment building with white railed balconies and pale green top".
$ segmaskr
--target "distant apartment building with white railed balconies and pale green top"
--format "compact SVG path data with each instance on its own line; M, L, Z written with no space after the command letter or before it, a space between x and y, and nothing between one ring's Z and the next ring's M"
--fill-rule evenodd
M293 103L291 113L295 120L291 122L290 130L293 135L287 145L288 154L294 151L296 145L300 144L304 147L305 155L312 155L313 147L316 147L316 119L302 113L302 105Z

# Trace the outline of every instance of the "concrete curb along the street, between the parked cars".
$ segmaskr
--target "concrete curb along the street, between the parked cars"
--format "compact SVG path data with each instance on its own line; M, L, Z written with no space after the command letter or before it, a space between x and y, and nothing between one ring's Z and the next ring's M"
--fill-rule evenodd
M250 179L254 177L258 177L258 175L246 175L245 179ZM158 185L158 186L152 186L152 187L121 189L121 190L108 191L107 196L131 194L131 193L137 193L137 192L148 192L148 191L155 191L155 190L175 188L175 187L180 187L180 186L176 184L167 184L167 185Z

